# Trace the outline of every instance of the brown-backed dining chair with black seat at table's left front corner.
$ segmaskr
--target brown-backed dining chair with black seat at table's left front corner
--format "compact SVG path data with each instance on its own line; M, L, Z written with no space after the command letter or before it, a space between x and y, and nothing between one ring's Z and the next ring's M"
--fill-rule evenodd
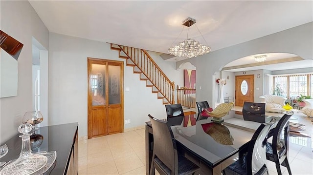
M176 140L167 121L148 115L153 128L153 154L150 175L194 175L200 168L177 151Z

